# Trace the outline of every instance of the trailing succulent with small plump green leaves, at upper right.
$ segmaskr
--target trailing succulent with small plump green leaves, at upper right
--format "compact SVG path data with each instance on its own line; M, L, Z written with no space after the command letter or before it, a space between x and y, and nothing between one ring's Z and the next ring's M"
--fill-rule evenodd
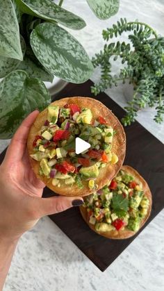
M129 42L110 42L108 40L128 32ZM106 40L104 50L92 59L94 67L101 67L101 81L91 90L99 92L117 86L126 79L133 84L133 99L126 106L126 116L122 118L124 126L135 121L138 110L145 106L156 106L155 122L163 122L164 113L164 38L158 36L153 28L141 22L120 22L103 31ZM117 76L113 76L111 60L120 58L122 67Z

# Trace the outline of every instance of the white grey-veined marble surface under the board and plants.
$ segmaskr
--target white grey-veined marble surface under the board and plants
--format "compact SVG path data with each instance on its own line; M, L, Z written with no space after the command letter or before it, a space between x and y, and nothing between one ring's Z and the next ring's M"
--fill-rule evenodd
M77 3L78 2L78 3ZM145 21L159 33L164 27L164 0L120 0L120 11L100 21L85 0L65 0L63 7L79 13L88 26L74 31L90 56L103 45L101 30L120 17ZM95 72L93 81L99 80ZM106 91L124 106L122 86ZM164 142L164 127L151 122L149 113L138 121ZM0 152L8 141L0 141ZM101 273L48 217L44 217L19 241L4 291L162 291L164 290L164 210L129 247Z

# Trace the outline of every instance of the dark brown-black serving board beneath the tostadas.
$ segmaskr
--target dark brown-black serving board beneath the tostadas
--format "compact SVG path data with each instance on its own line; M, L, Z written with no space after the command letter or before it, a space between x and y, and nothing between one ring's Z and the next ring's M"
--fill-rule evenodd
M93 97L90 93L91 81L81 85L68 84L54 100L64 97L86 96ZM95 97L93 97L95 98ZM96 97L104 103L113 113L121 119L124 110L117 105L105 93ZM155 128L155 124L154 124ZM126 158L124 165L131 165L145 178L153 195L153 206L148 222L163 209L164 206L164 147L163 144L154 138L138 122L124 128L126 132ZM1 153L0 163L3 160L5 151ZM48 188L44 190L44 197L52 196ZM90 230L83 221L79 208L71 208L63 213L51 215L50 218L60 229L76 244L90 260L92 260L101 271L104 270L122 253L122 251L137 237L145 226L133 238L127 240L108 240Z

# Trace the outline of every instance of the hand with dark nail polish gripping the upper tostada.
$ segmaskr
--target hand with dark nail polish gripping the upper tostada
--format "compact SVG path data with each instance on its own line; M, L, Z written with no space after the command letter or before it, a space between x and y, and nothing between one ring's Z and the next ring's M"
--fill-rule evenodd
M24 119L0 166L0 233L7 240L17 240L44 215L83 203L81 197L42 198L45 185L31 169L26 149L28 131L37 115L35 110Z

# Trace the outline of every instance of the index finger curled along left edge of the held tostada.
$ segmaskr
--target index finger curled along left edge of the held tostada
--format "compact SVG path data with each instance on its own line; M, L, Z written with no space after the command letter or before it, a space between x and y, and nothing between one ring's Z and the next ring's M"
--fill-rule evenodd
M35 118L38 116L39 111L33 111L19 126L13 139L11 140L8 150L6 151L5 162L19 161L24 156L24 151L26 149L26 141L28 137L28 132L31 128L31 125L35 121Z

